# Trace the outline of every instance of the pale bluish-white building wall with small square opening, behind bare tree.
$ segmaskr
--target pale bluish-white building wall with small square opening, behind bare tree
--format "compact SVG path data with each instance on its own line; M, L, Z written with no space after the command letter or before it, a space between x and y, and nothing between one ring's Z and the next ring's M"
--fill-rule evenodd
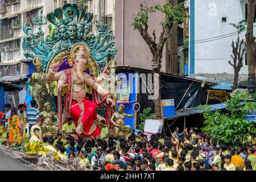
M195 40L235 32L236 28L229 23L237 24L245 19L245 3L246 1L240 0L195 0ZM222 17L226 17L227 21L222 22ZM241 38L245 39L245 32L241 34ZM231 43L236 39L237 35L233 35L212 42L195 43L195 73L233 74L233 67L229 65L228 60L232 60ZM245 59L243 65L240 73L247 73Z

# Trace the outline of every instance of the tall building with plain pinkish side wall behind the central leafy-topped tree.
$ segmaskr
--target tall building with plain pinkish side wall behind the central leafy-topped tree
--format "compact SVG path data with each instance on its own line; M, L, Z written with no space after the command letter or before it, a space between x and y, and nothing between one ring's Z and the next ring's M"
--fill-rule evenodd
M96 23L103 20L108 24L108 29L113 30L115 36L115 47L118 49L115 60L118 65L130 65L131 67L152 69L151 57L152 53L146 42L131 27L133 16L139 11L139 5L146 3L148 6L155 6L170 2L172 5L184 2L184 0L92 0L88 1L87 9L94 14L93 32L96 31ZM155 30L156 36L160 35L160 20L164 18L164 14L155 13L150 16L148 32L152 35ZM156 37L158 40L158 37ZM181 57L183 46L183 24L174 26L170 32L170 39L166 44L162 58L162 71L167 73L180 74Z

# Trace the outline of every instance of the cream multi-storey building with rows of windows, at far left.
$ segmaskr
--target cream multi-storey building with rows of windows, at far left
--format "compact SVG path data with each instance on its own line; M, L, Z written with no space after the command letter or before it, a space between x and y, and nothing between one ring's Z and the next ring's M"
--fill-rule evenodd
M0 77L26 75L27 64L20 64L26 59L23 55L22 39L26 36L22 26L31 24L34 32L39 25L33 22L39 15L46 15L54 10L53 0L0 0ZM48 33L48 24L42 25L44 36Z

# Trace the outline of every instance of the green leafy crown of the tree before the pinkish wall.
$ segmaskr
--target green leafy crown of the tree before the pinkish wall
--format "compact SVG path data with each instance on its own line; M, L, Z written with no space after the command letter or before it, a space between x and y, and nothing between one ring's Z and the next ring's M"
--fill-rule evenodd
M171 23L178 23L187 18L187 14L184 10L183 3L180 3L177 6L172 6L170 3L164 5L155 5L148 7L147 5L139 5L139 13L136 13L134 16L134 21L131 26L134 30L139 28L144 28L147 26L148 17L151 13L160 11L165 14L166 17L160 22L163 26L171 25Z

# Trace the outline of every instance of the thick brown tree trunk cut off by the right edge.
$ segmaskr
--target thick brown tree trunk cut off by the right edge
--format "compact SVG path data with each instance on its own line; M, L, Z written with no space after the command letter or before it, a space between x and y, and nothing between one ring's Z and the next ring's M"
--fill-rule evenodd
M253 94L256 90L256 49L254 48L255 36L253 36L253 23L255 14L256 1L248 0L248 10L247 10L247 32L246 32L246 56L248 63L248 91Z

